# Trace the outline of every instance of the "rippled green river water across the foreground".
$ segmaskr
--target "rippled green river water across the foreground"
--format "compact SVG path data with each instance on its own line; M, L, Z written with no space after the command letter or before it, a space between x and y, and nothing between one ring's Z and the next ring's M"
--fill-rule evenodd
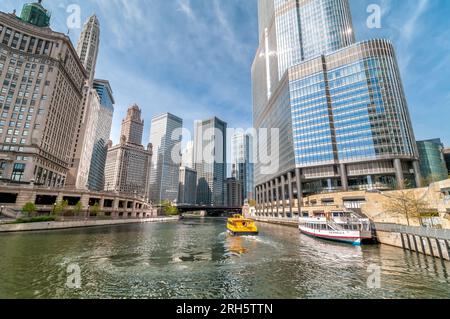
M0 235L0 298L450 298L450 263L388 246L353 247L222 219ZM65 287L67 267L82 287ZM381 288L367 269L381 267Z

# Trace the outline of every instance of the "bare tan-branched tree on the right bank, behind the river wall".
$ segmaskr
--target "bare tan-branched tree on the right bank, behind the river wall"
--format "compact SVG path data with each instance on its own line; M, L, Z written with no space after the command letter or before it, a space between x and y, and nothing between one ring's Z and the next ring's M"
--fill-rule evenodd
M422 214L430 210L428 202L418 197L412 190L397 191L395 195L388 197L384 204L385 211L406 218L408 226L411 226L414 219L418 219L421 223Z

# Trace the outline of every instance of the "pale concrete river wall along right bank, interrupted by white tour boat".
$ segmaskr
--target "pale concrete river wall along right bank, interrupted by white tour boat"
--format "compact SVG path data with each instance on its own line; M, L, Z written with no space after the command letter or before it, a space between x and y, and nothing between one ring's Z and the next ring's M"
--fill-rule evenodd
M252 216L261 223L298 227L293 218L271 218ZM376 236L383 245L402 248L442 260L450 261L450 230L410 227L397 224L375 223Z

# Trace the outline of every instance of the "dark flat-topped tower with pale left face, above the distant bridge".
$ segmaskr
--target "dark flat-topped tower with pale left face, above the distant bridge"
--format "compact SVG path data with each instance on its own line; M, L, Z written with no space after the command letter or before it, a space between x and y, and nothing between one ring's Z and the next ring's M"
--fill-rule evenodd
M221 206L225 199L227 123L217 117L194 125L197 204Z

